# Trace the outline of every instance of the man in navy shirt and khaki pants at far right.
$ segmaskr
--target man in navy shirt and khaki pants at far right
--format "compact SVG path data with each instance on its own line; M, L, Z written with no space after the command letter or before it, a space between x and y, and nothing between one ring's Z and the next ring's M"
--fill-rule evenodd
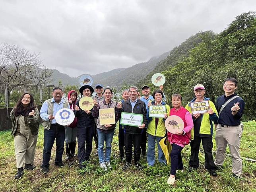
M240 123L244 112L244 100L235 93L237 83L235 78L227 78L225 80L223 85L225 94L218 97L216 101L219 119L214 122L217 124L215 165L217 167L222 166L225 160L227 144L229 144L229 151L232 156L232 173L235 178L239 178L242 172L242 159L239 149L242 136Z

